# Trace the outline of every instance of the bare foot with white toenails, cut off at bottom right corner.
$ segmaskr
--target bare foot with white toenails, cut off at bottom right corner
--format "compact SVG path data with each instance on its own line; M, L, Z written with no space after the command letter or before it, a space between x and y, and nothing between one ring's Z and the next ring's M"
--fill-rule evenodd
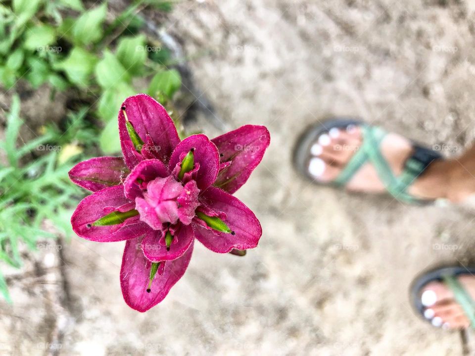
M457 277L458 282L475 299L475 276L463 274ZM454 291L443 282L430 282L421 293L424 305L424 316L432 325L444 329L464 329L471 321L462 306L457 302Z

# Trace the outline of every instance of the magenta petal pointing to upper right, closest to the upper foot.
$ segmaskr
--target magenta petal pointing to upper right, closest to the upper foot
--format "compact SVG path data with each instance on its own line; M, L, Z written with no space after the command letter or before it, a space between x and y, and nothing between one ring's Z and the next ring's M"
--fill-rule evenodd
M222 154L221 164L231 161L229 167L219 172L214 186L233 194L257 167L271 137L265 126L245 125L211 141Z

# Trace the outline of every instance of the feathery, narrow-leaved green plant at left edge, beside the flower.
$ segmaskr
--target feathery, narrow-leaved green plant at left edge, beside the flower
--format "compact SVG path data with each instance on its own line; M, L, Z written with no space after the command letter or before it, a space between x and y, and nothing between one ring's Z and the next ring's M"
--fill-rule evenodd
M55 230L66 237L72 234L69 219L71 203L82 195L80 189L70 184L68 171L73 162L58 163L58 156L64 146L49 144L58 142L57 133L49 131L44 135L18 146L22 120L19 118L20 101L13 97L7 114L5 140L0 149L6 153L8 164L0 165L0 261L21 266L19 244L29 249L37 248L42 238L55 238L53 231L43 227L47 219ZM84 111L83 111L84 112ZM76 121L81 118L76 117ZM73 132L80 123L70 127ZM29 163L22 163L31 154L41 154ZM70 157L71 158L71 157ZM10 300L5 281L0 273L0 292Z

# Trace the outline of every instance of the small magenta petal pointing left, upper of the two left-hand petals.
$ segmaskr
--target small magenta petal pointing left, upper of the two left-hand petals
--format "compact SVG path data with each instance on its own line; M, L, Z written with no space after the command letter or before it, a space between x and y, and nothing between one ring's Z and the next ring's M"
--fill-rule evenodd
M96 192L122 183L129 169L122 157L95 157L76 164L69 178L80 187Z

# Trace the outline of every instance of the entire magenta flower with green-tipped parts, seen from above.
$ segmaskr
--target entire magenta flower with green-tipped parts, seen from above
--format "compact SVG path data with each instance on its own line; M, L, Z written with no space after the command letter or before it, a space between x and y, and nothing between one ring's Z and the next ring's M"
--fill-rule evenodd
M71 224L87 240L127 240L122 294L143 312L183 276L195 238L221 254L257 246L259 220L232 194L261 161L270 135L245 125L213 140L200 134L180 141L165 108L145 94L122 104L119 133L123 158L91 158L69 172L94 192Z

